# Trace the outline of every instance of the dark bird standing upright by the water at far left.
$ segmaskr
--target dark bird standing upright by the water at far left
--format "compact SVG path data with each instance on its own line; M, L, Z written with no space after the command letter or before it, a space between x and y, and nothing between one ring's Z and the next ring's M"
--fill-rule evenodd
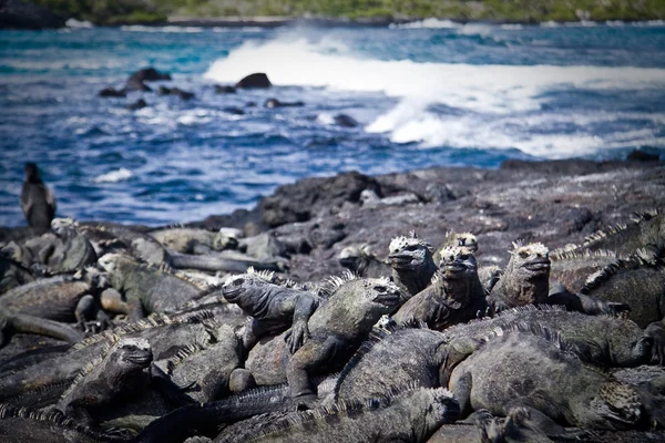
M34 228L51 228L55 215L55 197L39 177L37 165L25 163L25 181L21 190L21 209L28 225Z

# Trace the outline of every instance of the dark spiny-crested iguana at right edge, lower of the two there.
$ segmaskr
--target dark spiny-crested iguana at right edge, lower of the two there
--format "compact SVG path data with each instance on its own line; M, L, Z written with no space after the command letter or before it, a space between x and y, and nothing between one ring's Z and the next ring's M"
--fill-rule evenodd
M654 354L665 362L665 264L648 251L617 259L591 275L581 292L607 302L625 303L628 318L654 338Z

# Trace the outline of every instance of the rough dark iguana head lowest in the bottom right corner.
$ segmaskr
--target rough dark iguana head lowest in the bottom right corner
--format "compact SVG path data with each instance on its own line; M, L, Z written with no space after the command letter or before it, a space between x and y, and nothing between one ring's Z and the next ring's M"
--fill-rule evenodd
M642 418L642 402L633 387L610 380L591 401L590 412L593 427L634 427Z

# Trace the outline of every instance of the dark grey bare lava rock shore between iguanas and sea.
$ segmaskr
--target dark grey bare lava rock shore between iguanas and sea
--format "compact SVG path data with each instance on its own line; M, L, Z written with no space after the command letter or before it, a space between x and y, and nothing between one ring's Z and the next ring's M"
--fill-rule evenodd
M663 208L664 166L662 161L507 161L498 169L344 173L282 186L252 210L187 226L231 226L247 235L268 230L293 245L291 275L303 280L340 271L337 258L349 245L368 244L382 258L390 238L410 230L434 246L447 231L471 231L482 245L479 261L503 266L512 241L555 249L626 223L633 213ZM364 190L379 199L361 202Z

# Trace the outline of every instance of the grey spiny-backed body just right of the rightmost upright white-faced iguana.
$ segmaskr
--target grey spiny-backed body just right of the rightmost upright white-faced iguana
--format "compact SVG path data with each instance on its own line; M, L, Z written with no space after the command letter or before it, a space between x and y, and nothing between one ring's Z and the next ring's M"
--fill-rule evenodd
M580 291L586 278L613 264L617 254L611 250L557 250L550 254L550 287L563 285L573 292Z

